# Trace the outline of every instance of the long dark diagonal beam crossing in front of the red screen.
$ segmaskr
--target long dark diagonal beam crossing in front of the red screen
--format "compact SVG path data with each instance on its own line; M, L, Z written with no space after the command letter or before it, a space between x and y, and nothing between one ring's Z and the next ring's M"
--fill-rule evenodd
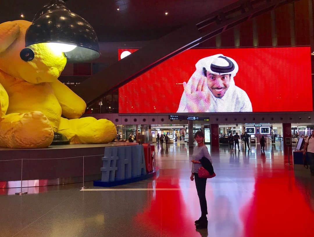
M73 90L87 105L128 83L159 63L225 30L295 0L241 0L198 22L187 24L86 79Z

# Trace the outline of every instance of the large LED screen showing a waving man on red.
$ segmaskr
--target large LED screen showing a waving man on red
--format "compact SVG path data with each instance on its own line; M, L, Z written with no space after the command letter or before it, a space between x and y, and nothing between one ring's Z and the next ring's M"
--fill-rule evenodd
M134 49L119 49L118 55ZM312 111L310 47L190 49L119 88L119 113Z

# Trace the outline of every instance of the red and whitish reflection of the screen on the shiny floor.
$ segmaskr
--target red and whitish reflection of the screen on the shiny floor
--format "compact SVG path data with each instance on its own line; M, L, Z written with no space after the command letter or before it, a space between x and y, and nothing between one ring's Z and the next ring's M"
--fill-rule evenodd
M260 159L264 162L265 157ZM156 188L181 190L156 191L155 199L147 203L135 221L151 231L161 231L161 236L207 236L197 233L194 226L199 214L194 182L182 187L180 183L188 182L187 177L180 177L176 171L173 176L167 173L156 180ZM216 180L208 180L208 236L313 236L310 183L305 186L298 182L293 170L258 166L253 177L230 178L238 188L219 175Z

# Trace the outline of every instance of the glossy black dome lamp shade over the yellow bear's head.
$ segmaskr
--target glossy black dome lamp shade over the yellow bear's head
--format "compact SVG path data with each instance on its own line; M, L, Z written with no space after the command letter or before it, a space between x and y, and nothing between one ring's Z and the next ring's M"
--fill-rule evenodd
M71 12L62 0L52 0L36 15L26 30L25 46L38 43L76 45L64 52L68 62L86 62L100 56L97 35L82 17Z

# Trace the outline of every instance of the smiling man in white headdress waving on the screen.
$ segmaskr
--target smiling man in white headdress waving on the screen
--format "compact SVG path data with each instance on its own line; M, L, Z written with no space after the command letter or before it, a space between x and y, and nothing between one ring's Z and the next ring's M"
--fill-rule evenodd
M233 79L239 69L235 60L215 54L200 59L195 67L189 81L183 82L177 113L252 112L249 97Z

